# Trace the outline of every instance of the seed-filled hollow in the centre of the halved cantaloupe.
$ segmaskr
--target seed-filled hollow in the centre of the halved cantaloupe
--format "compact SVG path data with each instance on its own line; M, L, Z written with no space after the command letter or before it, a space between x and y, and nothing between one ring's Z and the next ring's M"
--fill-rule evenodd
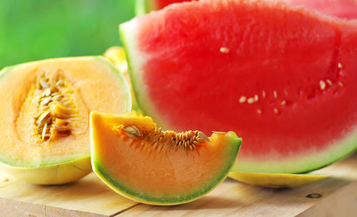
M86 130L88 113L74 87L61 70L54 75L39 75L21 107L17 129L31 144L69 137Z

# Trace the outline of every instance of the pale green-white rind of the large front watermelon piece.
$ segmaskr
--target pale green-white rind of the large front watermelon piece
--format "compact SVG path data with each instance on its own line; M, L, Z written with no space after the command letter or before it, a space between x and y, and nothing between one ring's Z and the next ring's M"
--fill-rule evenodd
M163 129L170 129L169 123L164 120L154 108L148 95L148 89L143 80L144 72L141 70L144 60L139 48L136 46L136 33L139 29L137 21L133 20L122 23L119 26L119 35L124 45L126 57L128 61L129 75L134 88L137 102L141 110L146 115L150 115ZM348 156L357 149L357 125L356 129L343 139L336 139L331 142L331 146L325 150L316 150L303 157L292 157L290 159L282 159L277 157L276 161L254 159L238 159L233 166L232 171L242 172L263 172L263 173L291 173L300 174L308 171L320 169L323 166L328 166L333 162Z

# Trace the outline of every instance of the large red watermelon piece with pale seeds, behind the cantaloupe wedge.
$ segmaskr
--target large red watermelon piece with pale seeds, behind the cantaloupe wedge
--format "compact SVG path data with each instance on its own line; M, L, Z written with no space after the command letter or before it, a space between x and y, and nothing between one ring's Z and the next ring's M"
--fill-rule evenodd
M357 148L357 22L266 1L172 4L120 26L164 129L233 130L233 171L301 173Z

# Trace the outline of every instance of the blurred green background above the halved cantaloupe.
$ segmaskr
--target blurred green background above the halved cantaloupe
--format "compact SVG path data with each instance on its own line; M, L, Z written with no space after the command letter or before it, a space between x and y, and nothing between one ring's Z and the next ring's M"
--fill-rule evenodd
M120 45L134 0L0 0L0 69L44 58L100 55Z

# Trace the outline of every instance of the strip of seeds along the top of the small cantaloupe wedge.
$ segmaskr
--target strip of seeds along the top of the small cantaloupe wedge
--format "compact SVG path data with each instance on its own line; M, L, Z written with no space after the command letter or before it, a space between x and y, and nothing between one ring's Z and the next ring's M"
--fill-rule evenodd
M186 132L174 132L172 130L155 130L139 129L135 125L119 125L114 127L119 135L125 135L131 139L142 139L142 144L152 144L154 147L167 146L167 147L183 147L185 149L194 150L200 147L203 142L210 142L210 139L198 130L188 130ZM226 132L215 132L217 134L226 134Z

